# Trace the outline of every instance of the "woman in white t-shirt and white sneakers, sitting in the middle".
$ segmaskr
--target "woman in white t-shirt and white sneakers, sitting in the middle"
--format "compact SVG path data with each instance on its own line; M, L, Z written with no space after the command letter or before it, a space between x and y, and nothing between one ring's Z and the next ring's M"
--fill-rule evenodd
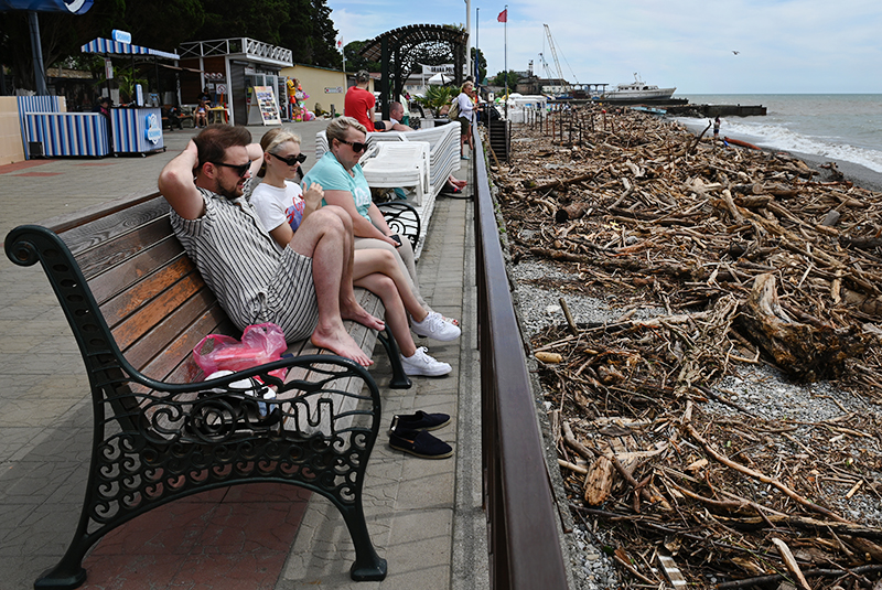
M300 164L306 157L300 153L300 138L283 129L271 129L260 140L263 163L258 176L263 181L251 192L251 205L263 227L281 247L286 247L302 221L322 206L324 192L312 183L305 191L290 179L297 178ZM439 376L450 373L447 363L417 348L408 329L407 315L413 319L415 329L441 341L459 337L460 329L443 321L437 313L428 313L413 297L410 287L391 253L363 249L355 254L353 283L375 293L386 308L386 322L401 350L405 373L408 375Z

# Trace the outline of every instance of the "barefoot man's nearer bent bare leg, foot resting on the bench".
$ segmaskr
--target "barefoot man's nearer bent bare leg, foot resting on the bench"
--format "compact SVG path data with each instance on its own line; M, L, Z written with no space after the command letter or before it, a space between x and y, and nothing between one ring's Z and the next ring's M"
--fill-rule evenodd
M341 277L345 226L332 211L321 208L306 217L294 233L289 247L312 258L312 280L319 304L319 324L312 333L312 343L352 358L363 366L373 361L346 333L340 314ZM352 232L349 232L352 234Z

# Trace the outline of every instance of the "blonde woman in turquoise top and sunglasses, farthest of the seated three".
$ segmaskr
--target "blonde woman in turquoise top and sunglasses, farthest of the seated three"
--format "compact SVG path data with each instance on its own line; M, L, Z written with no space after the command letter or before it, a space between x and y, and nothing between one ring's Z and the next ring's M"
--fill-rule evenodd
M324 189L324 202L337 205L352 215L355 249L381 248L396 255L401 269L411 280L413 297L423 309L433 310L426 303L417 282L417 267L410 240L400 243L389 236L392 234L379 208L370 200L368 186L358 160L367 148L367 130L352 117L337 117L329 124L329 151L309 171L303 182L313 182ZM448 320L448 319L445 319ZM454 320L448 320L456 324Z

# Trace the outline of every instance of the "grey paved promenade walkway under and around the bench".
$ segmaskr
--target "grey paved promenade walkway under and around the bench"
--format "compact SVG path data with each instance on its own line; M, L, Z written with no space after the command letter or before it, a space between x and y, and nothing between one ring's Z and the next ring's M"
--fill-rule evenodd
M297 124L314 153L323 121ZM265 128L252 127L256 140ZM166 132L168 152L147 158L36 160L0 167L0 237L17 225L155 190L162 167L194 133ZM305 168L314 163L310 158ZM470 162L471 163L471 162ZM466 178L467 167L460 171ZM444 378L409 390L381 387L384 427L394 414L444 411L437 435L453 459L394 451L381 437L365 483L368 527L388 560L383 582L354 583L354 551L330 503L284 485L240 485L169 504L119 527L87 556L95 589L480 589L486 588L481 509L480 382L471 201L440 197L419 262L426 298L461 318L459 342L430 353ZM76 527L90 454L92 407L78 350L42 270L0 259L0 590L29 588L55 565ZM378 354L377 358L383 355ZM372 368L383 386L388 363Z

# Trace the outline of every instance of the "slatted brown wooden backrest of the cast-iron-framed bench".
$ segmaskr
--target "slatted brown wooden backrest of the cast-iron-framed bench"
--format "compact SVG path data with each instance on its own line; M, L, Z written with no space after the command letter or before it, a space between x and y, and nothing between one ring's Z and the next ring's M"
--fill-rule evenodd
M174 237L159 193L58 235L120 351L146 376L201 380L193 347L205 334L238 335Z

